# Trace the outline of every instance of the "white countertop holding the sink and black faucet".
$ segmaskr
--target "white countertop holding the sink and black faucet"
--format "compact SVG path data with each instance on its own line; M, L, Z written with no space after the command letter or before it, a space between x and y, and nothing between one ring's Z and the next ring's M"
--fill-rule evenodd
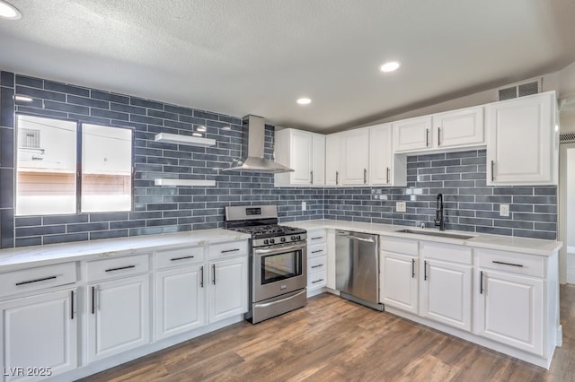
M439 236L417 235L413 233L397 232L398 230L422 230L430 231L435 229L418 229L403 225L375 224L358 221L293 221L288 225L303 228L305 230L332 229L332 230L353 230L356 232L373 233L376 235L393 236L397 238L418 239L426 241L436 241L440 243L459 244L469 247L490 248L501 251L520 252L522 254L552 256L553 253L562 247L561 241L516 238L502 235L488 235L482 233L465 232L459 230L446 230L446 233L472 236L472 239L452 239Z

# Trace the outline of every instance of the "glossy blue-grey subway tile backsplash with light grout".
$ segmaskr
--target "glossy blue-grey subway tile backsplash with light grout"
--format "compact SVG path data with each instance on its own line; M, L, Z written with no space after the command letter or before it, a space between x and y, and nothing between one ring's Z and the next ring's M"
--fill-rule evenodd
M556 238L556 187L486 187L484 150L410 156L408 187L274 187L270 174L221 171L241 155L240 117L9 72L1 72L0 86L0 247L218 228L228 205L277 204L283 223L325 218L432 226L438 193L448 230ZM14 93L33 100L14 103ZM14 112L133 128L134 210L14 217ZM157 133L191 135L198 126L207 127L216 146L155 142ZM266 126L268 159L273 140L273 126ZM210 179L216 187L156 187L155 178ZM406 202L405 213L396 212L397 201ZM500 216L500 204L509 204L509 217Z

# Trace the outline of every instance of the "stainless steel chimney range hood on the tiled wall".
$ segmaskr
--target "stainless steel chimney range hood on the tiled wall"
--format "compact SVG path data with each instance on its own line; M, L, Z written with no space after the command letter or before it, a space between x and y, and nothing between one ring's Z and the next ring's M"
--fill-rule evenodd
M230 167L222 171L288 172L283 164L263 157L265 143L265 120L262 117L243 117L242 157L234 159Z

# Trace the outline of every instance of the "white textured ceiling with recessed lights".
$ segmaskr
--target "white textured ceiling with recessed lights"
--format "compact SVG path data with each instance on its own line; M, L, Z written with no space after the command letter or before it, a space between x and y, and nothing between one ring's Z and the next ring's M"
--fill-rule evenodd
M315 131L575 61L573 0L9 2L0 69Z

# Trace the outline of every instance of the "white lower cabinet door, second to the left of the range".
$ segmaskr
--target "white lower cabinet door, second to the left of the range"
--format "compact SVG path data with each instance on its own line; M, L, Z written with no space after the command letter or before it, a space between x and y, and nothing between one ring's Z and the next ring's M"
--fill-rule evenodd
M156 339L203 326L204 295L203 265L156 273Z

